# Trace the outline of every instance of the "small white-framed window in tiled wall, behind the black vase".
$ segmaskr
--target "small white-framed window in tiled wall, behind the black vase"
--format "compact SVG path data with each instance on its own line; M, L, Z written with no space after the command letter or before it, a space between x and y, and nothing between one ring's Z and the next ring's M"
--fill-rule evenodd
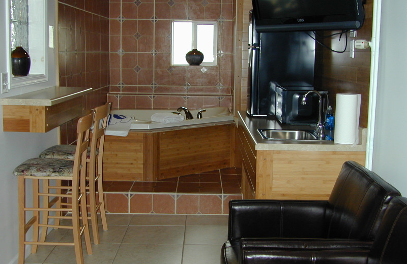
M172 21L172 65L188 65L185 54L192 49L203 53L201 65L216 65L217 21Z

